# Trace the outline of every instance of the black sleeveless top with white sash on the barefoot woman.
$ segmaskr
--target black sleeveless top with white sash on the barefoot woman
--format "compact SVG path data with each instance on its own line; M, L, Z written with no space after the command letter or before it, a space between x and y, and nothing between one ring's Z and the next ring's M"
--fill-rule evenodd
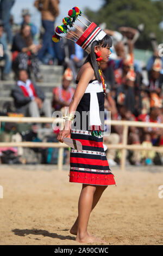
M78 86L78 81L76 82ZM87 115L86 112L88 112ZM80 115L80 122L74 123L74 126L77 125L77 128L74 127L74 129L90 130L90 125L104 124L104 93L102 83L98 82L98 80L91 80L89 82L75 114Z

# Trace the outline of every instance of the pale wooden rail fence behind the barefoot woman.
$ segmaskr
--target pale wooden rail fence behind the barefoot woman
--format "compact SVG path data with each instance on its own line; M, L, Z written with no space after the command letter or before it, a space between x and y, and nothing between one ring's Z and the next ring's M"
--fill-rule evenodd
M32 117L3 117L0 116L0 127L1 122L15 122L15 123L53 123L54 118L32 118ZM62 122L61 118L57 119L58 123ZM120 120L105 120L107 125L121 125L123 126L123 139L122 144L106 144L108 149L120 149L122 151L121 157L121 170L125 170L126 163L126 153L127 150L153 150L155 152L163 153L163 147L143 147L142 145L128 145L127 136L128 136L128 127L158 127L163 129L163 124L158 123L145 123L140 121L120 121ZM62 170L63 164L63 153L64 148L68 148L65 143L53 143L53 142L0 142L0 147L30 147L30 148L39 148L39 147L50 147L50 148L59 148L58 156L58 169Z

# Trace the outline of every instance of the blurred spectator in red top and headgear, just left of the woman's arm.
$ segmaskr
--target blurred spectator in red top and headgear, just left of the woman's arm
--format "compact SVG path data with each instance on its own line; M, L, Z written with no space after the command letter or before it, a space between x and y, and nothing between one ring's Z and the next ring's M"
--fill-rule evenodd
M52 106L55 110L60 110L62 107L70 105L72 96L74 94L74 88L70 87L73 75L70 68L65 70L62 77L62 85L53 89L53 103Z

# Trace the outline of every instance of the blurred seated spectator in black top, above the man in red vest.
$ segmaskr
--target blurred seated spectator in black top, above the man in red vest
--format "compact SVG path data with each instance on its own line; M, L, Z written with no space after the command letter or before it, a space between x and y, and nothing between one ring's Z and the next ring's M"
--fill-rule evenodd
M12 44L13 69L25 69L33 72L37 82L42 81L42 75L39 72L39 60L36 53L41 46L33 44L30 34L30 26L23 24L20 33L14 36Z

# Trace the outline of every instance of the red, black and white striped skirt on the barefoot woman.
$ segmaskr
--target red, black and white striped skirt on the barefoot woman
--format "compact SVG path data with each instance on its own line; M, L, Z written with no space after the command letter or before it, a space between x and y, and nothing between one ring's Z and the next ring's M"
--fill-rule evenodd
M103 148L103 136L93 137L90 131L72 129L72 139L82 143L82 151L70 151L70 182L91 185L116 185Z

